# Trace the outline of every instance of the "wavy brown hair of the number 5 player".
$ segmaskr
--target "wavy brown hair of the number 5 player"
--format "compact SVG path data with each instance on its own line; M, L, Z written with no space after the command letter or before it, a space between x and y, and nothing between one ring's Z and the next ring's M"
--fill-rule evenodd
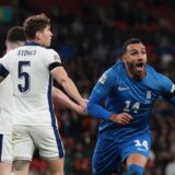
M36 32L43 31L47 25L50 25L50 19L44 13L27 18L23 24L28 39L34 39Z

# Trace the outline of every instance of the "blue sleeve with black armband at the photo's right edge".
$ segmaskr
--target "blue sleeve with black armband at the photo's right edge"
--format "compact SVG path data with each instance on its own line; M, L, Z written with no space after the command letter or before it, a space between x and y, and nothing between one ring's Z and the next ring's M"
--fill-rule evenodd
M163 74L161 74L161 95L175 106L175 84Z

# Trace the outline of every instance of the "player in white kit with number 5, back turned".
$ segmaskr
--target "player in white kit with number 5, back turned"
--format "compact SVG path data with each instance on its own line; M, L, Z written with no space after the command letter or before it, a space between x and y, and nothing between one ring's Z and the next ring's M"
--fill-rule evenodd
M51 175L63 175L63 145L52 108L52 78L82 108L85 100L50 46L50 20L45 14L25 20L25 46L7 54L1 60L0 75L11 74L16 117L14 120L14 174L27 174L33 152L48 163ZM52 78L51 78L52 77Z

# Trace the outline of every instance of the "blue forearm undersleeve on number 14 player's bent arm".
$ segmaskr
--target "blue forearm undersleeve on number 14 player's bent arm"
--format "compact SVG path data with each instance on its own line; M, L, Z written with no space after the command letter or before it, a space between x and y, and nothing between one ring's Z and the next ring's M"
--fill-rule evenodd
M113 115L113 113L106 110L101 105L93 103L92 101L89 101L88 103L88 113L94 118L101 118L107 120Z

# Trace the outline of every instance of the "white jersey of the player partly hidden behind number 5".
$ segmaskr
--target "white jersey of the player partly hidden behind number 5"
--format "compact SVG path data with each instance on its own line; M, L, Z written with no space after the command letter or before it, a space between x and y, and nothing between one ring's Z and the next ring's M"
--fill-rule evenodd
M15 107L10 75L0 83L0 133L11 135Z

